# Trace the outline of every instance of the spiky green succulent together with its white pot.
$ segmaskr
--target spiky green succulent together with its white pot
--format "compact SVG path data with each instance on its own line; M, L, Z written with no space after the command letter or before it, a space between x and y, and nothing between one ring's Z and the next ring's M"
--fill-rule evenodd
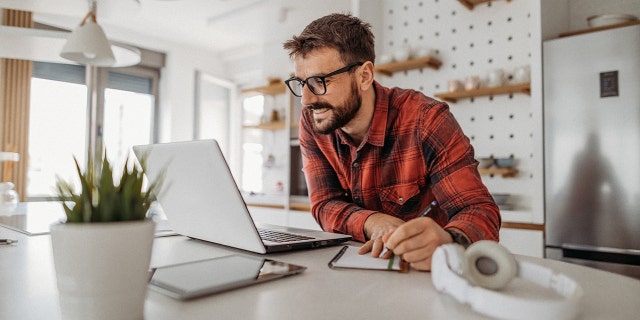
M146 213L159 182L143 191L129 158L115 180L106 155L99 170L90 160L82 172L74 161L80 191L58 178L67 219L51 226L62 318L143 319L155 231Z

